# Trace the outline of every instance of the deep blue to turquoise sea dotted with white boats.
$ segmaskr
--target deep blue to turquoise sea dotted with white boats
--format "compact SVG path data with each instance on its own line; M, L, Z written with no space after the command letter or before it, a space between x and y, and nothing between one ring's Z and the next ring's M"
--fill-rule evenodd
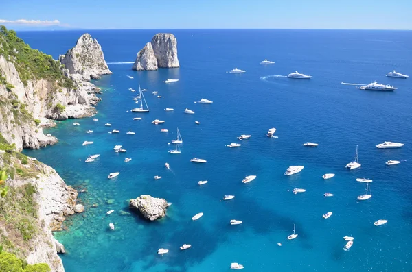
M98 40L113 72L92 81L102 89L98 121L58 121L45 129L57 136L56 145L24 151L82 191L85 212L69 217L67 230L54 234L67 249L61 255L67 272L229 271L232 262L244 271L412 271L412 79L385 76L393 70L412 75L411 32L151 29L18 35L57 59L85 32ZM132 71L137 52L159 32L176 36L181 67ZM264 59L275 64L260 64ZM228 73L235 67L246 73ZM285 77L295 71L312 79ZM165 84L166 79L179 82ZM348 85L374 81L398 89ZM130 112L138 91L129 88L139 90L138 84L148 89L148 113ZM202 98L214 103L195 103ZM185 108L195 114L184 114ZM153 125L155 119L165 123ZM172 155L178 127L182 152ZM278 138L266 136L271 127ZM87 134L89 129L93 133ZM112 129L119 134L109 134ZM241 134L251 138L240 141ZM94 143L82 146L85 140ZM376 148L385 140L404 147ZM306 142L319 146L304 147ZM230 143L242 146L229 148ZM126 153L115 153L115 145ZM362 166L350 171L345 165L354 160L356 146ZM84 162L92 154L100 157ZM126 157L132 160L124 162ZM190 162L194 157L207 163ZM387 160L400 164L387 166ZM284 175L291 165L304 169ZM111 172L120 174L109 180ZM325 173L336 175L323 180ZM257 178L243 184L247 175ZM357 199L366 190L356 182L360 177L373 180L373 197L366 201ZM208 183L199 186L199 180ZM306 192L295 195L293 188ZM323 197L326 192L334 196ZM129 199L140 195L171 202L166 217L149 222L130 210ZM224 195L235 198L223 201ZM107 215L108 210L115 211ZM203 217L192 221L198 212ZM326 212L332 217L323 219ZM231 219L243 223L230 225ZM376 227L378 219L388 223ZM298 236L288 240L294 225ZM343 236L354 237L348 251ZM183 244L192 247L181 251ZM157 254L159 248L168 254Z

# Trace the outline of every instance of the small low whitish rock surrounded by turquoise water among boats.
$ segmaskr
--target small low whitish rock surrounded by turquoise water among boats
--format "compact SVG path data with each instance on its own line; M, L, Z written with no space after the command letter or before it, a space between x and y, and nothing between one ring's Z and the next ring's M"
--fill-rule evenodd
M168 201L163 198L155 198L150 195L141 195L137 199L130 199L130 208L135 208L148 220L165 217Z

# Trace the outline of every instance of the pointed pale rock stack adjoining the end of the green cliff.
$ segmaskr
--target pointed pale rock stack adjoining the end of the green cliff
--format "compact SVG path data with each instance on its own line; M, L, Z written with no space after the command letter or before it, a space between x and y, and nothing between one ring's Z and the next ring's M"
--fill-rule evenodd
M102 47L90 34L80 36L76 46L65 55L60 55L59 60L72 75L82 75L85 80L97 79L100 75L112 73L104 60Z

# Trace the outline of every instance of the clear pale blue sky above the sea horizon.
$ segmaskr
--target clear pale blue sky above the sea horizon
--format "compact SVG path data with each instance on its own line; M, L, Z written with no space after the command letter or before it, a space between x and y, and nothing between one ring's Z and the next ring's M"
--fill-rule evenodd
M1 0L10 29L412 29L412 0Z

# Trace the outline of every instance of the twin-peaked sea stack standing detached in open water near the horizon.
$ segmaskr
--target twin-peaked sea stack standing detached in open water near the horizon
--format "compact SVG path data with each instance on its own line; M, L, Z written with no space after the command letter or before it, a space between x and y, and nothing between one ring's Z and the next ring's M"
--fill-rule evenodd
M153 36L143 49L137 53L133 70L157 70L157 68L179 67L177 40L173 34L159 33Z

